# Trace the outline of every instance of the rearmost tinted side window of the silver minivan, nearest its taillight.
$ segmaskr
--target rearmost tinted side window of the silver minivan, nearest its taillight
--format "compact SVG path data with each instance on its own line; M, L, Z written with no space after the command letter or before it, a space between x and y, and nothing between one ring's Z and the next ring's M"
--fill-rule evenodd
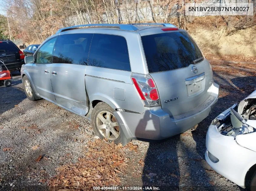
M131 71L125 38L117 35L94 34L88 65Z

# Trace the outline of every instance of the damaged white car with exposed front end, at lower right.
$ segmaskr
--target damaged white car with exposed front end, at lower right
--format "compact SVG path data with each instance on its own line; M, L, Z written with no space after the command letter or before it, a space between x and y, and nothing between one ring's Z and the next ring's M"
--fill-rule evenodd
M256 190L256 91L212 121L206 149L205 159L217 173Z

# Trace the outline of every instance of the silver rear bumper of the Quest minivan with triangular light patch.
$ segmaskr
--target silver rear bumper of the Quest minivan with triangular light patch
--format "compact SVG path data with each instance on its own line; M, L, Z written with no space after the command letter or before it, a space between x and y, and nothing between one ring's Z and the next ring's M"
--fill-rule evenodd
M161 140L191 129L211 113L218 101L219 85L213 83L208 92L213 97L211 103L203 104L205 108L191 115L174 118L161 107L145 107L144 113L116 111L114 114L127 138Z

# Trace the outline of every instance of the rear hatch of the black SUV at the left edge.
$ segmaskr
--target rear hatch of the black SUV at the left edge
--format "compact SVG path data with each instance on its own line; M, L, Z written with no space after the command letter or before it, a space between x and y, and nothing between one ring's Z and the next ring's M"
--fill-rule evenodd
M20 62L19 49L10 41L0 41L0 59L7 65Z

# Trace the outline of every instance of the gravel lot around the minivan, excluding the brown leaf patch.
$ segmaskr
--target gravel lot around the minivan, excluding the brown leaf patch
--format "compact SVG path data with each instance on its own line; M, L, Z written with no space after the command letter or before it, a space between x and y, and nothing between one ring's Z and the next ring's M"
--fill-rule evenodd
M244 190L208 166L204 160L205 135L211 120L254 90L255 76L215 71L214 80L221 87L219 101L195 131L161 143L133 140L130 145L138 145L136 151L129 146L120 148L128 158L121 185ZM86 157L86 143L94 141L95 135L86 119L46 100L29 101L18 73L12 82L12 87L0 87L0 189L51 189L48 183L56 175L56 167Z

